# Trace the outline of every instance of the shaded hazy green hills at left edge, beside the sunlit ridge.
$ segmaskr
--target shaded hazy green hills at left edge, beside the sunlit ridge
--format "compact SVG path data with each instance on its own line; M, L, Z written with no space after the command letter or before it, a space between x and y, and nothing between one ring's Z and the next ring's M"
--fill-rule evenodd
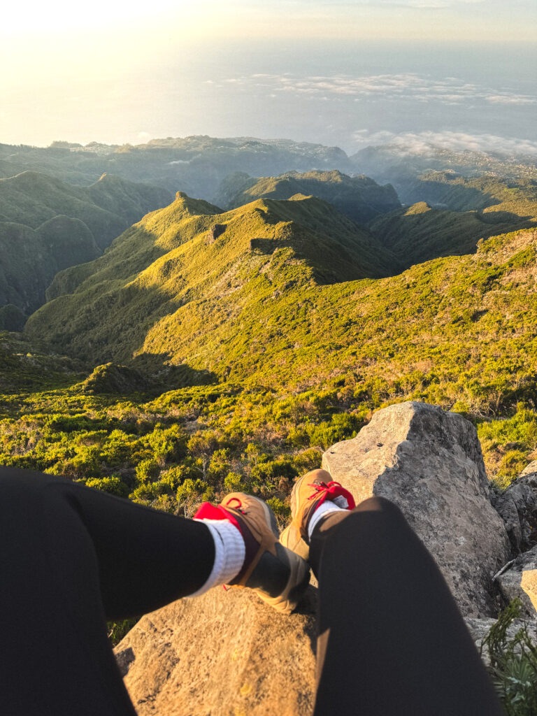
M170 199L165 189L110 175L87 187L31 171L0 179L0 306L32 313L58 271L97 258L127 226ZM0 329L13 328L10 320L0 313Z

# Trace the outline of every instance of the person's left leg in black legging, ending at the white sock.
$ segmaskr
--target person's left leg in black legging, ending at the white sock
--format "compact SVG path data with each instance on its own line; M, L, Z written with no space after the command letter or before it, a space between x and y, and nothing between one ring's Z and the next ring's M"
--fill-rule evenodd
M106 619L192 594L214 544L203 523L1 468L2 714L133 716Z

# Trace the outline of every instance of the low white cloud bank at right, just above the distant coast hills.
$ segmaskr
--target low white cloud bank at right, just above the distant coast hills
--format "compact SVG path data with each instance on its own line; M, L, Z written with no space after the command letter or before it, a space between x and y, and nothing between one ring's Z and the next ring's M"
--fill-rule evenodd
M455 152L498 153L503 155L531 155L537 157L537 142L516 137L497 135L472 135L467 132L369 132L357 130L353 133L359 148L366 146L390 145L402 156L427 155L432 151L448 149Z

